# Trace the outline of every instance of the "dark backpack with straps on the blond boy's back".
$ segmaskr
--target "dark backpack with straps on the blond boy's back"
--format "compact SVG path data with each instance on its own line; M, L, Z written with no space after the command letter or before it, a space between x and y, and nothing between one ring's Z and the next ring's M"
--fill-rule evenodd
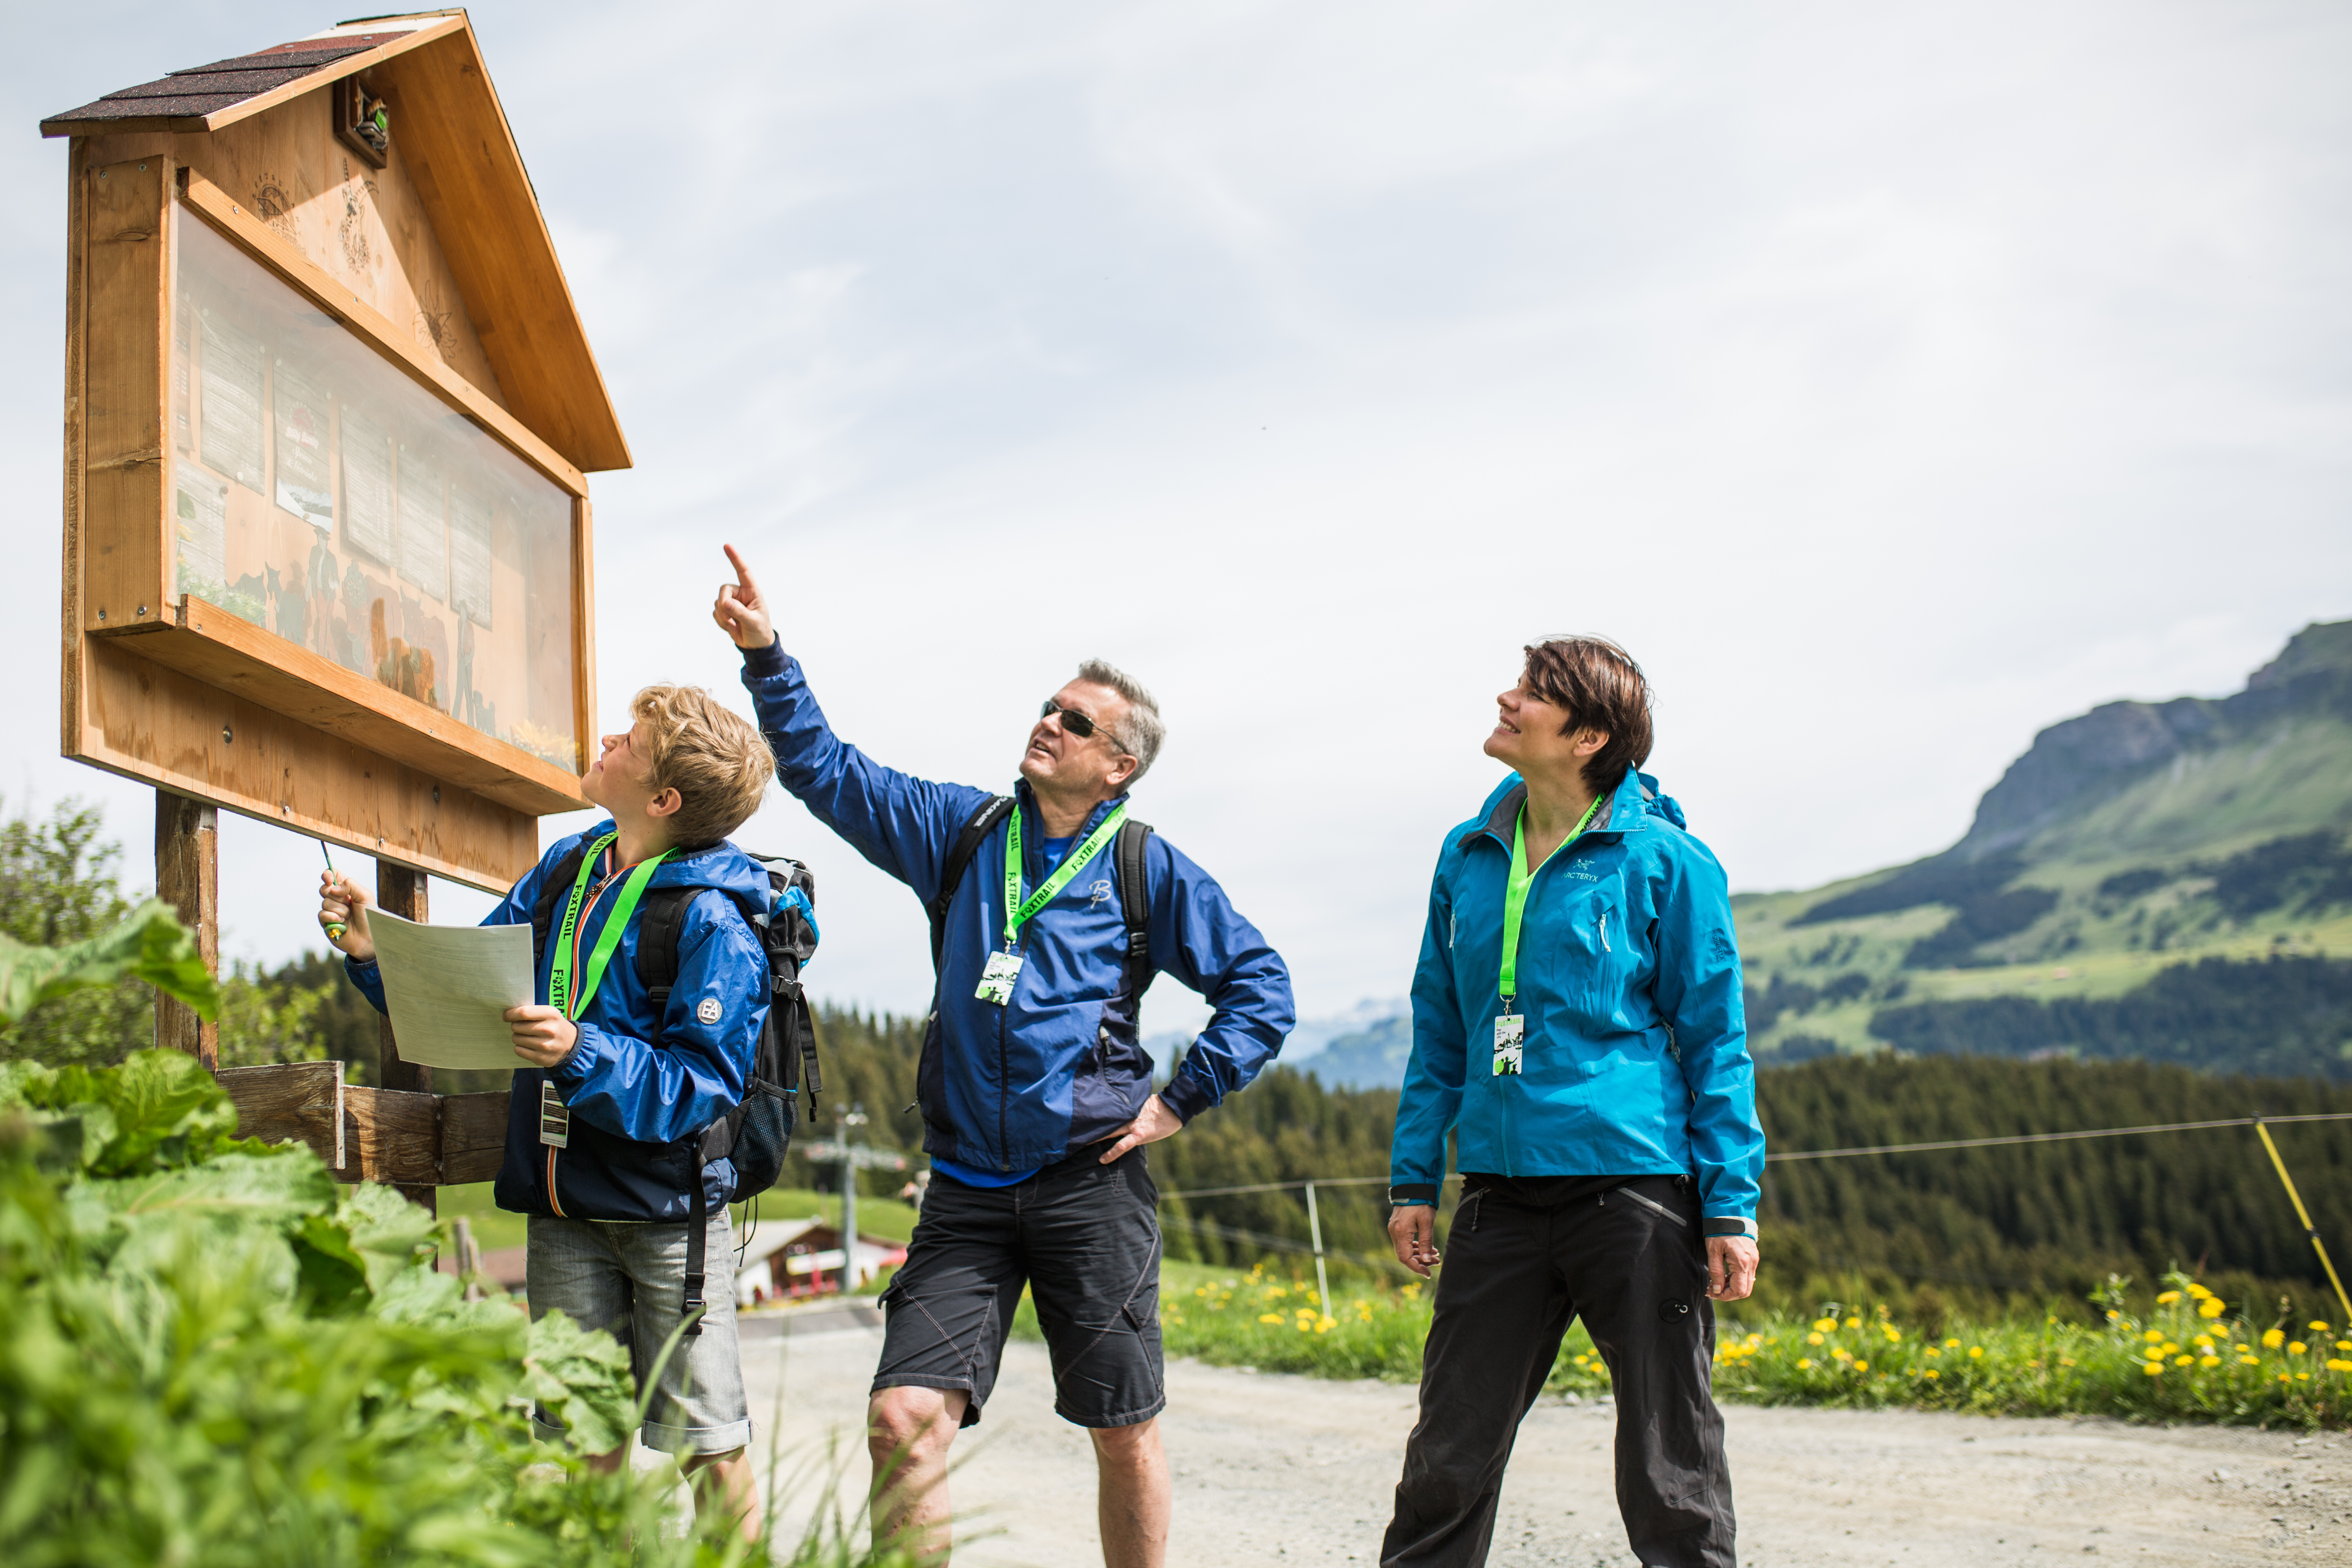
M564 863L541 884L532 907L532 952L546 947L548 926L555 917L555 891L569 889L579 877L583 849L564 856ZM746 851L748 853L748 851ZM800 860L781 856L753 856L767 867L767 907L753 907L736 898L736 910L750 922L760 947L767 952L769 1006L767 1025L753 1048L750 1081L743 1100L703 1128L691 1152L691 1206L687 1225L687 1333L701 1333L703 1314L703 1255L710 1220L710 1199L703 1192L703 1168L715 1159L729 1159L736 1168L739 1199L767 1192L783 1173L783 1154L793 1145L793 1124L800 1095L800 1070L809 1074L809 1112L816 1112L816 1095L823 1093L823 1074L816 1065L816 1020L809 1016L809 997L800 985L800 966L816 954L816 877ZM677 938L687 926L687 905L699 893L720 889L663 886L652 889L637 903L637 983L644 985L654 1016L670 1001L677 983Z

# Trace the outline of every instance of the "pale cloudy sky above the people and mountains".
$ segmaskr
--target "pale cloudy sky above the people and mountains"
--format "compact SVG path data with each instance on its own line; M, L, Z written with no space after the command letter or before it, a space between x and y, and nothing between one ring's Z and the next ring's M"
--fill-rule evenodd
M151 795L54 743L35 122L336 19L85 0L0 59L0 790L103 802L134 877ZM913 771L1002 788L1112 658L1171 729L1138 816L1310 1016L1404 990L1534 635L1644 661L1651 771L1771 889L1936 851L2039 726L2352 614L2340 5L473 19L637 456L595 480L604 722L734 689L720 541ZM903 889L781 795L739 837L816 867L818 992L922 1006ZM313 863L223 830L233 954L315 943Z

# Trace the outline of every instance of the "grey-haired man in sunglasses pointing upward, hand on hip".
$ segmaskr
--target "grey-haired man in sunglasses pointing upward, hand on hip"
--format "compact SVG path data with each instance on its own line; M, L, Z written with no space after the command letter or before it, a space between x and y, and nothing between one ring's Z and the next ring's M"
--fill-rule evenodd
M1054 1410L1094 1439L1103 1561L1157 1568L1167 1396L1143 1145L1275 1058L1289 971L1207 872L1129 820L1167 733L1131 677L1082 663L1030 726L1011 797L913 778L833 733L734 545L727 559L736 581L710 614L743 649L783 788L931 912L938 990L915 1088L934 1180L882 1295L875 1530L920 1530L913 1544L946 1561L948 1443L981 1420L1028 1284ZM920 724L936 703L908 691L894 717ZM1136 1039L1155 973L1216 1009L1162 1093Z

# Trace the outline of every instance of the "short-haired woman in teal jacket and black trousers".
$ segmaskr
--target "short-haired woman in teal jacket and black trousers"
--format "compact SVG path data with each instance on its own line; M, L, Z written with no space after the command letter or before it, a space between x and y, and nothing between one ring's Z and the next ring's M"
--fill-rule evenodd
M1724 870L1639 771L1623 649L1526 649L1486 755L1515 769L1446 835L1414 973L1390 1239L1437 1265L1388 1566L1482 1563L1519 1418L1583 1316L1618 1394L1618 1505L1656 1568L1729 1568L1712 1300L1757 1269L1764 1131Z

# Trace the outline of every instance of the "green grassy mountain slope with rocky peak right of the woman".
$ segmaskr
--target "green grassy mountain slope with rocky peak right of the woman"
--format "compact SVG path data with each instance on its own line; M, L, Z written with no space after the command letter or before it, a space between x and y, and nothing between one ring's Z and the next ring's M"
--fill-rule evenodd
M2352 959L2347 835L2352 623L2333 623L2300 632L2237 696L2110 703L2046 729L1940 856L1736 896L1757 1056L1790 1063L1926 1037L1973 1048L1969 1030L1992 1013L1952 1011L1922 1030L1919 1011L1992 997L2117 1001L2199 959ZM2336 1013L2305 1020L2310 1060L2265 1070L2328 1070L2314 1063L2333 1058L2352 1074L2352 964L2314 973L2340 997L2340 1025ZM2256 971L2223 980L2263 994ZM1907 1034L1891 1027L1896 1011L1910 1016ZM2067 1053L2084 1030L2114 1034L2112 1016L2074 1009L2074 1025L2027 1020L2006 1046L1980 1048L2023 1053L2018 1041L2049 1037ZM2220 1048L2201 1065L2246 1067Z

